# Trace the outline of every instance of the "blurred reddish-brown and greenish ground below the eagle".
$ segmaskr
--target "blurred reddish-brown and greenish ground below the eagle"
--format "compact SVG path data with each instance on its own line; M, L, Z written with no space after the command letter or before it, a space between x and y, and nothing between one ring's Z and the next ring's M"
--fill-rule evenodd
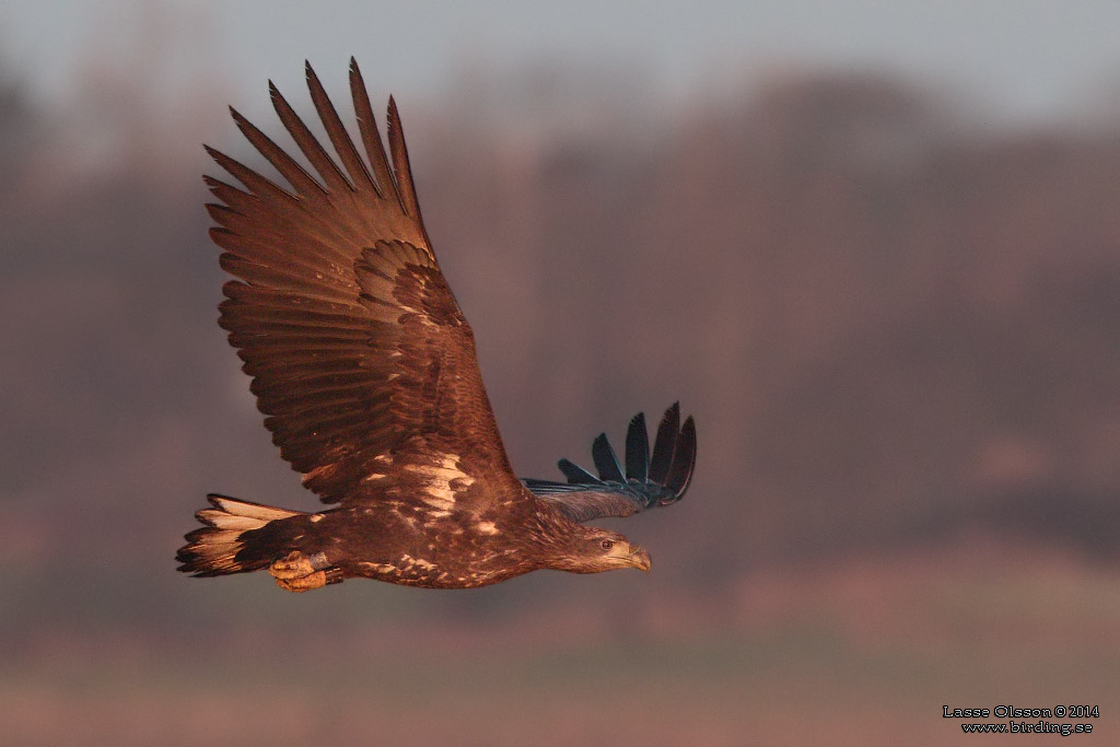
M0 675L0 728L20 745L964 745L1009 736L963 735L942 706L1085 702L1100 718L1049 720L1111 744L1118 580L973 536L760 571L718 601L659 596L625 632L601 609L547 607L279 635L48 633Z

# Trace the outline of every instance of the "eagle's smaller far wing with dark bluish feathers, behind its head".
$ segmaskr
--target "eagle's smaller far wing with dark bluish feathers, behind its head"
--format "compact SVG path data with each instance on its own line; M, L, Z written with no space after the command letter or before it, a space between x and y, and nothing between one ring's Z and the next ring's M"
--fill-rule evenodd
M690 415L683 426L680 423L681 409L674 403L661 419L651 456L645 414L634 415L626 431L625 475L607 435L599 433L591 445L598 477L561 459L557 465L567 483L532 478L522 482L539 498L578 522L668 506L684 497L697 464L696 422Z

